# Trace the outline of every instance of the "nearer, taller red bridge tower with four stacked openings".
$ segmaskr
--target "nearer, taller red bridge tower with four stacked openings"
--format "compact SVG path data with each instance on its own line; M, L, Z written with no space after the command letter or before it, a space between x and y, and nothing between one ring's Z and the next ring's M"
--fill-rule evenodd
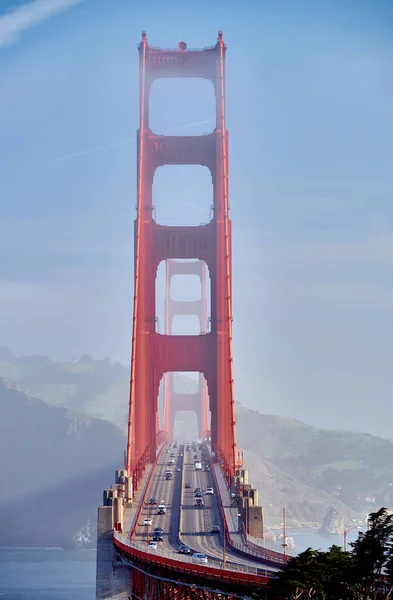
M225 53L222 33L215 46L188 50L153 48L142 34L138 200L135 220L135 291L132 335L127 469L134 488L148 462L156 458L158 390L162 376L174 371L203 373L211 412L215 460L227 477L236 470L235 400L232 363L231 221L228 206L228 134L225 127ZM209 135L163 136L149 127L149 95L161 77L199 77L213 83L216 126ZM153 218L155 170L163 165L202 165L211 173L213 216L207 225L164 226ZM211 328L200 335L156 332L155 279L168 259L204 261L209 269Z

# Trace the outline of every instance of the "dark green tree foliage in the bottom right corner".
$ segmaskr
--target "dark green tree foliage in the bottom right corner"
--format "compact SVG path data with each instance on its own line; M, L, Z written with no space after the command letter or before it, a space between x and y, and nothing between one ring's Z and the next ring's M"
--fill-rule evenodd
M368 529L350 552L332 546L308 548L292 558L274 580L272 600L382 600L392 597L393 515L369 515Z

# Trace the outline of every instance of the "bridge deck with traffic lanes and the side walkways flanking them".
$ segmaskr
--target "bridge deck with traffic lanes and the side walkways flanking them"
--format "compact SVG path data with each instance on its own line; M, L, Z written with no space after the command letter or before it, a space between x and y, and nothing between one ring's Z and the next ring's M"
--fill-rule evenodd
M173 466L168 465L171 453L175 454ZM197 454L200 457L199 451ZM138 550L152 557L165 557L183 564L184 567L187 564L195 566L195 562L191 555L179 553L180 544L189 546L193 552L205 554L209 567L254 576L273 576L278 570L277 567L264 564L260 556L241 555L235 551L233 545L228 547L225 543L221 502L231 539L236 546L244 548L242 536L238 534L237 508L231 507L230 494L222 472L218 465L213 465L210 461L208 464L210 470L196 471L192 450L185 451L184 446L174 449L170 445L163 448L153 471L145 473L133 507L127 507L125 510L124 533L116 532L115 538L130 550ZM173 478L169 481L165 478L168 468L173 472ZM186 483L191 487L186 488ZM195 488L206 490L209 486L213 488L214 493L203 495L203 508L195 507ZM150 498L154 498L157 504L149 505ZM165 504L165 515L158 514L158 504ZM135 523L136 517L138 523ZM145 519L151 519L152 524L144 524ZM213 525L220 527L220 534L211 533ZM163 541L157 542L157 549L149 546L155 527L163 529Z

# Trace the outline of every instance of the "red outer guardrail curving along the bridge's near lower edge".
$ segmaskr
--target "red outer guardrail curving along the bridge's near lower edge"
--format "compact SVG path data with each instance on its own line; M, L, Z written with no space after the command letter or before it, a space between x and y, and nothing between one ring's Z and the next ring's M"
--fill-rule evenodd
M164 567L170 571L177 571L187 575L195 575L196 577L201 577L201 575L203 575L206 579L226 581L229 583L236 584L243 583L244 585L253 585L256 587L263 584L269 584L269 578L263 575L254 575L252 573L244 573L242 571L215 569L214 567L204 567L202 565L197 566L189 563L182 563L180 561L172 560L170 558L165 558L164 556L151 555L147 552L137 550L136 548L132 548L131 546L124 544L116 538L116 535L114 535L113 537L113 543L116 546L116 548L120 551L120 554L125 554L126 557L129 556L134 559L139 559L144 563L156 565L161 568Z

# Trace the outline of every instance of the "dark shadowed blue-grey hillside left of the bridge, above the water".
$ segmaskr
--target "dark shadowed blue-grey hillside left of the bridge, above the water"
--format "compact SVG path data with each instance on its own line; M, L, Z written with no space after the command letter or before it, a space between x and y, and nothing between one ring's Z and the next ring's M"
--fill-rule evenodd
M97 506L124 446L113 423L0 378L0 544L68 546L81 530L94 543Z

